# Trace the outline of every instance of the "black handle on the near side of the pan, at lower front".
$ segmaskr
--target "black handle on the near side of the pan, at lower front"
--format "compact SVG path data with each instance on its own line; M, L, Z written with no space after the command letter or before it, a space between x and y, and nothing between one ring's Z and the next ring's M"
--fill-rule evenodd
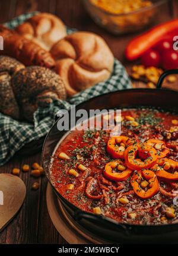
M74 219L78 222L82 218L85 220L88 220L88 221L97 221L99 226L106 227L106 220L102 216L95 216L92 213L84 213L82 211L76 211L74 214ZM115 223L113 223L113 224L115 224ZM129 230L124 224L116 223L115 225L117 225L117 229L119 229L120 232L124 233L126 236L129 236ZM111 228L111 227L109 227L109 228Z

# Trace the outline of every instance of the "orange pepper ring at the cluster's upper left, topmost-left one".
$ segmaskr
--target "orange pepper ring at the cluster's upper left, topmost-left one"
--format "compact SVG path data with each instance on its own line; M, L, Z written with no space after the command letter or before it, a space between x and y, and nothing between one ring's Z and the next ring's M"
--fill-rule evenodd
M120 145L123 143L123 145ZM132 141L127 136L113 136L107 142L106 151L112 155L113 158L124 158L123 152L126 146L131 145Z

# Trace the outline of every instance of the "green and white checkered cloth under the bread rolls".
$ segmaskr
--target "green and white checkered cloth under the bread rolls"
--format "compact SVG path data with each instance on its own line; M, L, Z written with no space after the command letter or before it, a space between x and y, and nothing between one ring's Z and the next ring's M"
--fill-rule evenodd
M23 23L24 20L33 16L35 13L28 13L18 16L5 23L11 29ZM67 29L72 33L74 29ZM49 104L46 108L38 108L34 113L34 123L21 122L0 113L0 166L5 164L19 149L27 143L42 138L49 132L50 127L55 121L56 114L61 109L69 110L71 104L80 104L94 96L107 92L132 88L125 68L115 59L112 76L105 82L88 88L67 101L56 101Z

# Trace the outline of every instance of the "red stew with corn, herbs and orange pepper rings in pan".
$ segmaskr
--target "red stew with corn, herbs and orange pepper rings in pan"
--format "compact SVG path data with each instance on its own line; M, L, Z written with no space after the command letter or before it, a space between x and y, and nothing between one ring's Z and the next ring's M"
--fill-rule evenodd
M150 108L114 115L119 136L72 130L59 143L53 185L81 210L119 223L177 223L178 116Z

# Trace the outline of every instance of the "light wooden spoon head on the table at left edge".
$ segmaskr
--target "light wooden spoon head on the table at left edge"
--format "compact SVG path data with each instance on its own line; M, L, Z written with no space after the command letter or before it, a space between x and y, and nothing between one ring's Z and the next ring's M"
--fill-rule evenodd
M18 212L25 197L23 180L12 174L0 174L0 232Z

